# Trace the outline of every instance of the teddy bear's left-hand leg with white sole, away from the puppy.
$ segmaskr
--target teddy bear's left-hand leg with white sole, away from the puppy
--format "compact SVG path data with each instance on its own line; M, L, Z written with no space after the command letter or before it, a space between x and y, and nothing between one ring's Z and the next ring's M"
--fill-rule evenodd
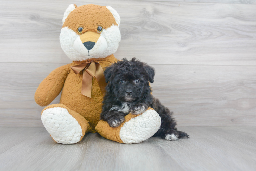
M63 104L53 104L44 108L41 119L52 139L62 144L79 142L89 127L84 117Z

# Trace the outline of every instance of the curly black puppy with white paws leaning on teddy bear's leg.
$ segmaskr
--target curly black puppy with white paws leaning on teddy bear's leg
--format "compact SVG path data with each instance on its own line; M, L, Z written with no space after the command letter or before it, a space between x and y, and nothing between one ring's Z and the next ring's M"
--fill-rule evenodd
M125 115L141 114L151 107L161 117L161 127L154 136L166 140L189 137L177 130L172 112L152 96L149 82L154 82L153 67L136 58L131 61L123 59L107 67L104 75L108 84L100 117L111 127L118 127L125 120Z

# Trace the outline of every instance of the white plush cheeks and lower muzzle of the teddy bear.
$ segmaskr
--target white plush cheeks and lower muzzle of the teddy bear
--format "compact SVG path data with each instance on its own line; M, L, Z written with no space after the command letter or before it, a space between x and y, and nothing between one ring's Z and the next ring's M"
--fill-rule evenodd
M91 43L89 46L86 45L86 42L81 41L80 35L68 27L62 28L60 34L61 48L73 61L107 57L116 52L120 41L120 30L115 25L103 29L97 42Z

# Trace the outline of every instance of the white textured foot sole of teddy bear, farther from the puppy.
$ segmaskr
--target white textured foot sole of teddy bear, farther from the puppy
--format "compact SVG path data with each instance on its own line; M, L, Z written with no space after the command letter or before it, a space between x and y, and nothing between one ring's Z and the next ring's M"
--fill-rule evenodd
M57 143L74 144L83 136L82 127L65 108L46 109L41 119L44 127Z

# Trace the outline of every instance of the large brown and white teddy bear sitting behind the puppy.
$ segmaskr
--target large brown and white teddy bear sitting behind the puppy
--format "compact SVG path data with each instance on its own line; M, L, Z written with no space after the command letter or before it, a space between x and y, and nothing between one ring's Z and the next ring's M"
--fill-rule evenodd
M106 81L104 69L116 62L120 16L110 6L94 4L66 9L60 44L72 63L53 70L38 86L35 101L47 106L41 120L57 143L74 144L88 132L119 143L139 143L157 132L161 118L152 108L128 114L116 128L100 120ZM60 103L49 105L59 93Z

